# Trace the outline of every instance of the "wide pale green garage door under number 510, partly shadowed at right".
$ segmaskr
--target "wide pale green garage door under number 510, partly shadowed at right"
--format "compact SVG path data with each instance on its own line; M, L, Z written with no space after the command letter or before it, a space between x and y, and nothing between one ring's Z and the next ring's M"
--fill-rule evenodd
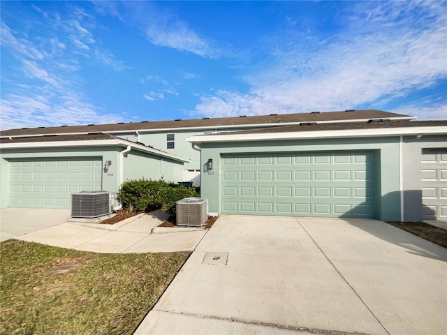
M223 214L374 217L374 153L222 157Z

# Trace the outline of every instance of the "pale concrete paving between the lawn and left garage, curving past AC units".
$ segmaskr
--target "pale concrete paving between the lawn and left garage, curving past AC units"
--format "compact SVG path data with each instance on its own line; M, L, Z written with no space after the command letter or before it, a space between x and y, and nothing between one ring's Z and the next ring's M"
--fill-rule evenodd
M69 214L60 209L1 209L1 240L15 238L96 253L165 253L192 251L207 232L160 228L168 218L161 211L138 214L114 225L67 222Z

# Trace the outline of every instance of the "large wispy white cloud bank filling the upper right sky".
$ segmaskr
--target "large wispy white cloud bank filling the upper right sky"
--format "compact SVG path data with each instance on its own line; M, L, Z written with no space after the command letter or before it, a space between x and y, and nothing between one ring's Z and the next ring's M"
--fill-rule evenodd
M379 8L371 12L374 4ZM419 3L420 8L402 2L373 5L365 9L361 3L349 29L329 40L297 34L294 45L283 41L283 49L275 40L274 61L258 64L245 76L249 91L205 94L192 114L223 117L346 110L365 103L384 106L446 79L445 8L439 10L432 2ZM409 15L411 10L431 19L422 26ZM435 113L427 110L428 118L430 112Z

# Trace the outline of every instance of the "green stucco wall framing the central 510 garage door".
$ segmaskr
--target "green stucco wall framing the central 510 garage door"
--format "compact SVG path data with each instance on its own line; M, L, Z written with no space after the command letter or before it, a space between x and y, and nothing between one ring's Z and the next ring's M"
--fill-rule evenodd
M203 143L201 164L205 165L211 158L214 168L210 172L202 168L201 196L208 199L211 213L221 213L221 155L224 154L372 150L376 153L376 218L399 221L399 140L399 137L386 137Z

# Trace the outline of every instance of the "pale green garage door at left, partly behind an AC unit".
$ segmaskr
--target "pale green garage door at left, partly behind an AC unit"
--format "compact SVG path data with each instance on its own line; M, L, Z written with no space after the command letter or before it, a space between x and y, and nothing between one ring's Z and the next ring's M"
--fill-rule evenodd
M101 157L10 160L10 207L71 208L71 193L101 190Z

